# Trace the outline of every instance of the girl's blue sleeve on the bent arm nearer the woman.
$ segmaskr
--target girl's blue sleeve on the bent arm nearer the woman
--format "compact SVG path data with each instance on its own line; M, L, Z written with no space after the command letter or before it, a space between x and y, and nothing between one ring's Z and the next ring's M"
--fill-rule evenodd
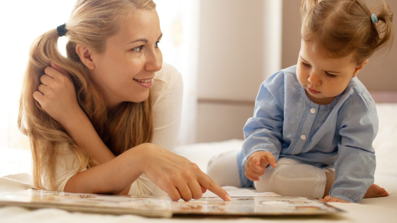
M283 108L284 75L279 71L260 86L254 116L245 123L243 152L246 158L261 150L271 152L278 159L282 147Z

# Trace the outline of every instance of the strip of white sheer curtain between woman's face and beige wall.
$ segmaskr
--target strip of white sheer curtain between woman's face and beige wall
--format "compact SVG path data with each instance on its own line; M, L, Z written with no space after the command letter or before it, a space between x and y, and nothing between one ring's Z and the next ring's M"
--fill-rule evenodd
M183 103L178 144L196 141L199 0L156 0L164 62L182 74Z

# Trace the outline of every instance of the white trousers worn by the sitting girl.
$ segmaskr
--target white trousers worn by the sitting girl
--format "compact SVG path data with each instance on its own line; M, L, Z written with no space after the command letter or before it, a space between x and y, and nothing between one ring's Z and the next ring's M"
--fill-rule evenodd
M208 162L207 174L220 186L241 187L238 165L237 151L218 154ZM254 181L258 192L322 198L327 182L326 171L334 173L333 169L320 169L289 158L278 159L276 165L276 168L266 169L259 181Z

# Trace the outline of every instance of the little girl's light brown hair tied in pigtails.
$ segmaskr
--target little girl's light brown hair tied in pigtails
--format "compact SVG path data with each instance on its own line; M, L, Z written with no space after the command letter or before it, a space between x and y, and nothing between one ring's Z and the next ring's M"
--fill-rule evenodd
M372 23L363 0L302 0L302 39L320 45L332 58L355 53L360 64L393 43L393 13L384 0L377 8L379 23Z

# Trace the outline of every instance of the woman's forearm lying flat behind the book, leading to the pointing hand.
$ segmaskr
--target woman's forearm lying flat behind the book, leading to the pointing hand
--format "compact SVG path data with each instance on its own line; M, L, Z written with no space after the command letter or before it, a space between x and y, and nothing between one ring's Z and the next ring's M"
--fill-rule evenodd
M94 194L126 194L129 186L142 174L143 154L140 146L127 150L118 157L89 168L71 177L65 192Z

